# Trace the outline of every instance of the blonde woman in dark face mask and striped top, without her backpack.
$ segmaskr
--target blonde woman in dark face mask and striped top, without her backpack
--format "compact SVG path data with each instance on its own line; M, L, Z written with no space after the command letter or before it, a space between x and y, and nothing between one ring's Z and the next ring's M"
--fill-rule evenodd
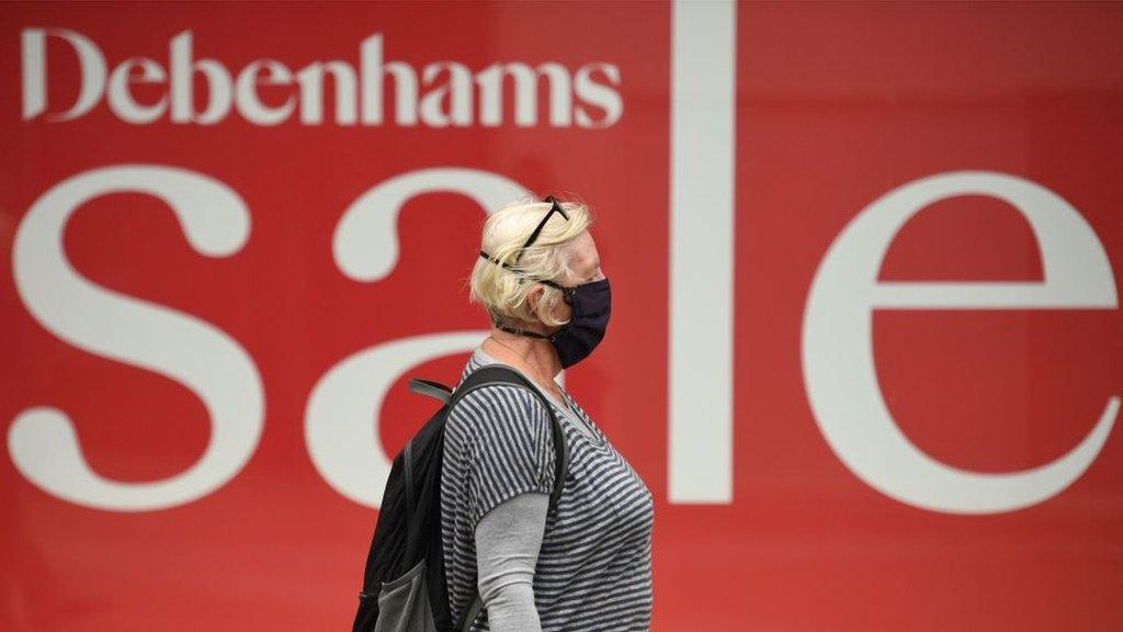
M551 419L530 391L468 392L448 417L441 534L453 621L472 630L648 630L651 495L555 381L604 335L609 280L576 202L515 204L484 225L471 299L491 335L460 378L491 363L522 372L551 403L569 450L557 507ZM482 606L472 608L478 587Z

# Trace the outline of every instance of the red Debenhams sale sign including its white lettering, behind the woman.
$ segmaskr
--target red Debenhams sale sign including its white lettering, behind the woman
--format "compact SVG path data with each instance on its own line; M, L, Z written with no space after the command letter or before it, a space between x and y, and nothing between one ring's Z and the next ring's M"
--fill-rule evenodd
M1114 630L1123 11L19 4L0 628L349 629L391 459L574 192L652 630Z

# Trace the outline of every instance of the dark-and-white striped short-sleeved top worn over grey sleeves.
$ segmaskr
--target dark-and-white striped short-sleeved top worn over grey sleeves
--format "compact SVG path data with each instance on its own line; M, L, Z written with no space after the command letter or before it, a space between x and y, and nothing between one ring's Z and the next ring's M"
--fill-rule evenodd
M491 362L477 349L460 381ZM651 621L651 494L588 415L565 397L567 406L547 395L569 446L569 469L557 509L546 518L535 570L542 632L646 632ZM520 494L554 489L550 424L532 392L509 385L473 390L448 416L440 490L453 621L459 621L474 594L480 518ZM472 630L489 630L486 610Z

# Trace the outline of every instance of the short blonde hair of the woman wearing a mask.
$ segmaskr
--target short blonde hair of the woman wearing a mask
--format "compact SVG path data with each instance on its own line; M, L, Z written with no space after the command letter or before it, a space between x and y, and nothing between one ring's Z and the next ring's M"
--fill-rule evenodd
M530 246L523 249L538 223L550 211L550 202L520 200L492 214L484 224L481 250L494 263L477 258L469 280L468 300L484 306L493 322L512 324L511 320L541 323L557 327L568 320L557 320L550 313L562 298L562 290L541 285L542 296L537 309L531 309L527 297L538 283L548 280L560 285L573 274L569 268L569 245L577 235L588 229L593 216L581 201L560 201L567 220L555 213L542 226ZM501 264L510 265L503 268Z

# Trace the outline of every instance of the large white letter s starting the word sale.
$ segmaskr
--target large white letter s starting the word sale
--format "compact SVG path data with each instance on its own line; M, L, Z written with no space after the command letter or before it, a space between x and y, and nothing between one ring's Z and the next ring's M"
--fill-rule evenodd
M157 165L94 169L56 184L24 217L12 255L17 291L39 324L67 343L191 389L212 416L210 442L176 476L119 482L90 469L65 413L34 407L13 421L8 451L16 468L53 496L99 509L143 512L190 503L237 475L261 437L264 395L253 360L227 334L194 316L101 288L71 267L62 245L66 222L84 202L119 191L165 201L188 243L207 256L229 256L249 236L245 202L217 180Z

